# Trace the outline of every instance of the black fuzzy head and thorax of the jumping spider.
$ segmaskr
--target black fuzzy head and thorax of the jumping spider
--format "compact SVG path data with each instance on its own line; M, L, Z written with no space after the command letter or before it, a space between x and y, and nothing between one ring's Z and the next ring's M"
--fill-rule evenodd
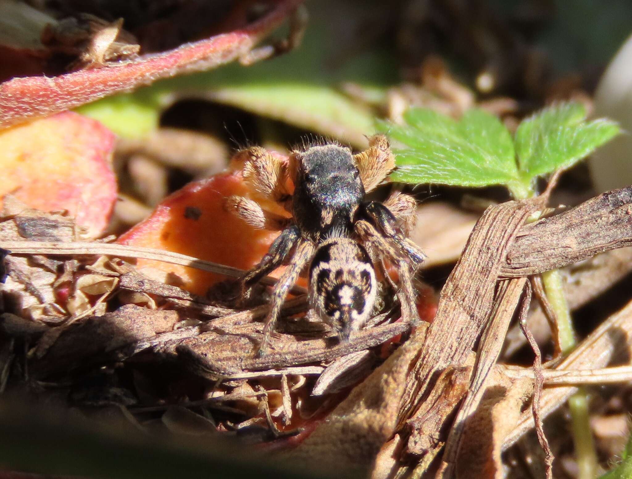
M364 199L360 173L351 150L338 145L312 147L298 161L292 214L301 231L314 241L336 231L351 231L353 215Z

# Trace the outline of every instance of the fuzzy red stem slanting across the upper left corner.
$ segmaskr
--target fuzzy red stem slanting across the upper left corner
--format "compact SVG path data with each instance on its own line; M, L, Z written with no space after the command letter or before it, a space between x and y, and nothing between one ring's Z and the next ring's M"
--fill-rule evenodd
M0 85L0 128L75 108L114 93L129 92L160 78L210 70L234 61L278 27L301 1L280 0L274 10L248 27L161 54L53 78L13 78Z

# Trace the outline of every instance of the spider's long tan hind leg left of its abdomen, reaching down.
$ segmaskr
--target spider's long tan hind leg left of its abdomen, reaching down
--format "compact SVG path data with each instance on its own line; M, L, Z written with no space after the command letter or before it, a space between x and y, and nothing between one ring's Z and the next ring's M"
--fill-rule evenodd
M283 272L283 274L281 274L279 281L276 286L274 286L274 293L272 293L272 308L270 308L270 312L268 313L267 318L265 318L263 338L257 351L258 356L265 354L268 343L270 342L270 334L274 330L274 326L276 325L279 313L281 313L281 308L283 307L285 298L288 296L289 290L292 286L294 286L296 279L298 279L298 276L301 274L305 265L307 265L312 259L315 250L316 246L311 241L300 241L296 248L296 253L292 258L291 264L288 265L288 268Z

